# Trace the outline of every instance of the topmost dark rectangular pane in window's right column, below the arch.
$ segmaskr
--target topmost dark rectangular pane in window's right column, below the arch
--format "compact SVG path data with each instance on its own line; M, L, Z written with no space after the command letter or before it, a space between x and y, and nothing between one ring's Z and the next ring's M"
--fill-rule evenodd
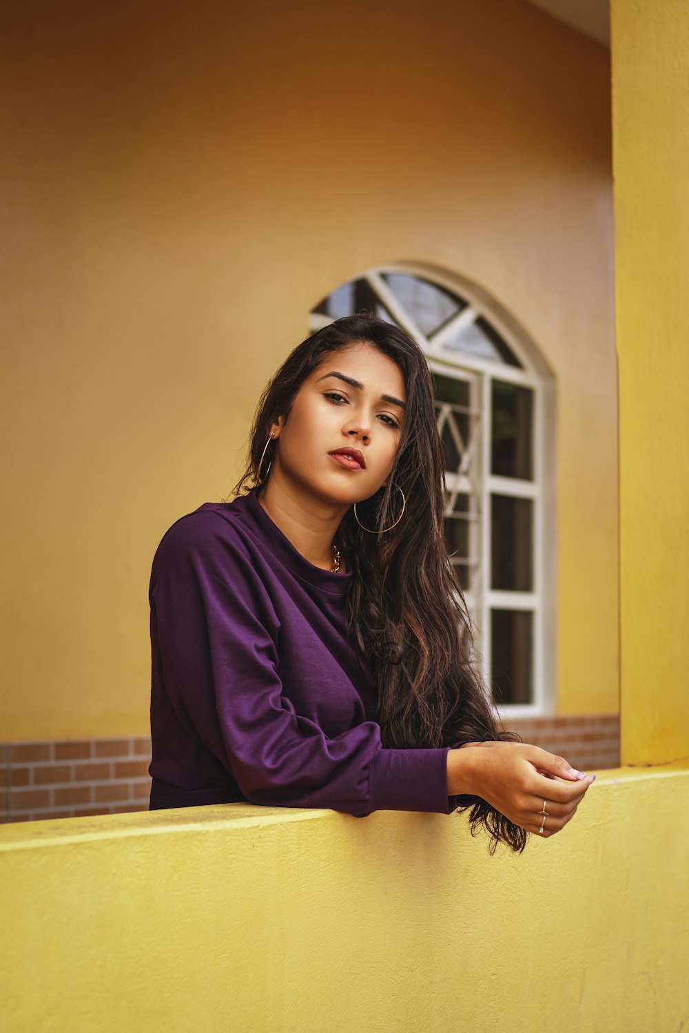
M533 392L493 381L491 472L500 477L533 479Z

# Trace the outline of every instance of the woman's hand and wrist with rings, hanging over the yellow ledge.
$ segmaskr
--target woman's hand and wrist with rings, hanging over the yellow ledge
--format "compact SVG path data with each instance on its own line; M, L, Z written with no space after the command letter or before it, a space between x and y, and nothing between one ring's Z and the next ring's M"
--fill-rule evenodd
M526 743L467 743L447 754L449 795L480 796L514 824L543 839L564 828L595 777Z

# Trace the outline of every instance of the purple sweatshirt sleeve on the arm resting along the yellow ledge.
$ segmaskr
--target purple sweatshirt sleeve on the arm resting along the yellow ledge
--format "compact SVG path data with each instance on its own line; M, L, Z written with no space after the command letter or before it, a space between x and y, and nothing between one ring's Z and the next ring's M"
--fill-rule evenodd
M364 721L327 738L295 712L280 624L248 555L193 514L161 542L151 585L165 691L189 733L251 803L449 813L448 748L389 750Z

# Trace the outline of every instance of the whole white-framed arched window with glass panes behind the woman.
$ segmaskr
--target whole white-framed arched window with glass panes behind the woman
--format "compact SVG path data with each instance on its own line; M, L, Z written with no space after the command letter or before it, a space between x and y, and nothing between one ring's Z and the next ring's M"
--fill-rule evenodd
M555 685L553 376L494 299L435 267L369 270L315 306L310 330L362 309L426 352L445 452L445 535L483 674L503 716L543 713Z

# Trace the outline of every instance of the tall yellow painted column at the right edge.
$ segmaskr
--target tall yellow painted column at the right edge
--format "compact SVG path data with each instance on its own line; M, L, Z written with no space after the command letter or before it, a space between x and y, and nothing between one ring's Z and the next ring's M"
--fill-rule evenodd
M622 762L689 755L689 6L613 0Z

